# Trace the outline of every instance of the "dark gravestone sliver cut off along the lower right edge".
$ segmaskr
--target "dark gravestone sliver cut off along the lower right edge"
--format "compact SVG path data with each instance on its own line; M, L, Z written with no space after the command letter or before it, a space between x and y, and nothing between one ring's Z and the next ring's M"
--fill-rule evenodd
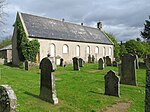
M150 112L150 55L146 60L146 95L145 95L145 112Z

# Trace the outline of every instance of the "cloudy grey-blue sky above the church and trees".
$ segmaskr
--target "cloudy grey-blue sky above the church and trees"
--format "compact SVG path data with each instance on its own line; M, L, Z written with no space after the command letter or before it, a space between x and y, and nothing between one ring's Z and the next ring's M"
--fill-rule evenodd
M118 41L140 38L144 22L150 15L149 0L6 0L4 33L0 38L13 34L16 13L24 12L52 19L84 23L113 34ZM1 29L0 29L1 30Z

